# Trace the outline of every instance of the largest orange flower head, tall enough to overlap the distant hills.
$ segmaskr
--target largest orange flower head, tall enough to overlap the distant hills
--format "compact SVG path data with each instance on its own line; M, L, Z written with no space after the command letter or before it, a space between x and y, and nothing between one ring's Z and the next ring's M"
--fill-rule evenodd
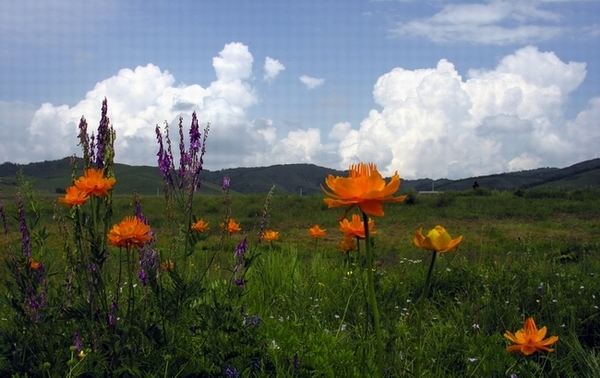
M365 214L383 216L382 202L402 202L406 196L393 197L400 188L400 176L394 173L388 184L385 183L377 166L373 163L359 163L350 166L348 177L327 176L325 184L331 192L323 187L329 198L325 198L329 208L347 206L350 210L358 206Z

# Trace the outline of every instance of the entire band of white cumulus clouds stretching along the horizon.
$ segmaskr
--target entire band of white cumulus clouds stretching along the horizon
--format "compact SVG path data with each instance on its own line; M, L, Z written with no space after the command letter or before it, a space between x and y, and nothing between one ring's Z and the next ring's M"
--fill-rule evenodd
M156 165L155 126L167 121L174 136L179 116L187 127L193 111L201 125L212 125L205 158L211 170L284 163L347 169L369 161L386 175L465 178L599 156L600 97L573 119L564 114L569 94L585 79L585 63L563 62L533 46L464 77L446 59L433 68L394 68L375 83L377 106L358 125L340 120L285 135L268 115L248 116L259 101L253 62L246 45L230 43L213 58L215 80L206 87L178 84L148 64L97 83L72 107L0 102L10 115L0 119L0 161L80 155L79 119L84 115L95 129L104 97L117 133L115 159L132 165ZM273 77L280 71L265 69Z

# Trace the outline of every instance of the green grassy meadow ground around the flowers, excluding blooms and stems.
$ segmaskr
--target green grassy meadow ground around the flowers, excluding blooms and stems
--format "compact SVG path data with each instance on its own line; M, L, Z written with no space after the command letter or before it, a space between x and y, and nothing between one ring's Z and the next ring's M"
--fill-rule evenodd
M185 211L166 209L163 197L140 197L160 260L172 259L181 275L161 272L163 290L180 301L151 299L134 277L137 313L121 330L107 330L93 314L77 315L75 305L64 305L65 237L73 237L63 224L69 209L53 196L24 197L33 256L45 264L46 313L28 324L15 311L19 287L11 282L10 262L21 254L18 201L0 197L9 230L2 242L3 375L377 375L364 253L338 249L343 209L328 209L323 196L203 196L200 190L193 213L210 229L184 257L179 254L186 243L184 222L178 220ZM112 223L132 215L133 207L131 197L115 196ZM227 212L241 232L223 233L219 223ZM412 377L416 371L423 377L600 376L599 214L600 191L591 189L409 193L404 203L386 205L385 216L374 218L372 241L385 376ZM309 236L314 224L327 229L325 237ZM419 312L431 253L412 238L417 229L438 224L463 241L458 250L438 255ZM259 244L261 227L278 231L279 239ZM232 281L234 251L244 237L249 257L242 289ZM107 263L114 274L117 251L110 248ZM559 336L554 352L506 352L510 343L503 334L522 328L526 317L547 326L548 336ZM74 330L83 358L73 352ZM99 337L102 332L114 335ZM34 335L43 342L32 341Z

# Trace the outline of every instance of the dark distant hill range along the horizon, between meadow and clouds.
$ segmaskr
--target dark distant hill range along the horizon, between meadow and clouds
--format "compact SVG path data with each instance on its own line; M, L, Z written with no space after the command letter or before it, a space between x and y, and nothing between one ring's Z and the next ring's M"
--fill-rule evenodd
M81 163L79 163L81 167ZM162 191L162 177L157 167L115 164L116 194L152 195ZM70 158L29 164L0 164L0 184L14 186L16 174L32 179L33 187L47 193L57 193L71 184ZM347 175L346 171L319 167L314 164L284 164L269 167L231 168L219 171L202 171L201 193L221 192L223 176L231 179L231 190L239 194L266 193L275 185L275 193L313 194L321 192L325 177L333 174ZM468 190L474 183L487 189L514 190L527 188L600 188L600 158L586 160L566 168L538 168L519 172L508 172L487 176L469 177L460 180L418 179L402 180L401 190L447 191Z

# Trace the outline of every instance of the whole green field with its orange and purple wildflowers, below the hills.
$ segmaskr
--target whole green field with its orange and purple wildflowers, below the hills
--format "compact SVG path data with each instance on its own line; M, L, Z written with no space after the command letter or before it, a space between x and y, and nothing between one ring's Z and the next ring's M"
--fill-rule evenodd
M0 376L600 376L599 190L203 196L194 118L114 196L102 115L64 195L0 185Z

